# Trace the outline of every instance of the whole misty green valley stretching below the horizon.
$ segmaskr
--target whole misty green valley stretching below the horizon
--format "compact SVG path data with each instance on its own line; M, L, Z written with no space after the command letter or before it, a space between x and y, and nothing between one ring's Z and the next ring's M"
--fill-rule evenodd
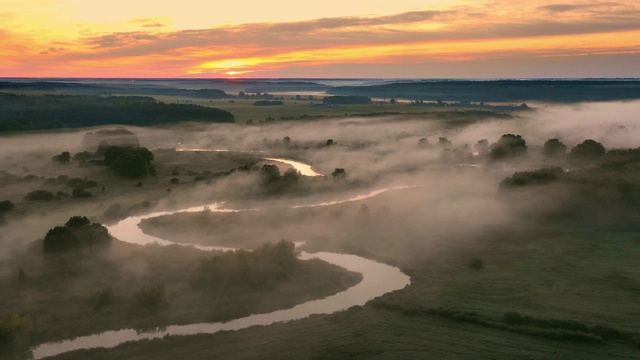
M405 86L333 107L277 88L7 86L0 100L20 100L0 110L2 359L640 359L637 100L454 106L396 98L420 90ZM80 120L17 126L32 100ZM314 254L407 281L279 320L392 281ZM171 330L256 314L273 324ZM38 350L124 329L147 338Z

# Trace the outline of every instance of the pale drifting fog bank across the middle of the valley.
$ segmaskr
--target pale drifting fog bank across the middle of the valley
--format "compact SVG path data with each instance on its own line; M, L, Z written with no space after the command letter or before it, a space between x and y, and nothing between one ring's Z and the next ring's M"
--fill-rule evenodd
M535 168L539 163L528 164L525 159L518 162L517 166L511 163L489 166L484 161L469 157L443 161L443 147L438 145L438 138L446 137L451 142L451 149L471 153L478 140L487 139L493 143L502 134L520 134L529 146L531 157L534 157L532 154L535 154L535 149L550 138L561 139L569 148L585 139L602 142L607 149L635 148L638 146L637 139L640 139L640 127L637 125L639 110L640 102L637 101L541 104L534 111L515 113L509 119L483 119L467 126L450 126L446 120L438 119L356 117L262 126L192 124L165 129L128 127L138 136L141 145L152 151L171 148L260 151L253 155L304 161L326 175L303 179L298 184L297 192L269 196L261 192L255 172L236 172L208 184L203 182L194 186L173 187L171 194L163 194L160 199L157 193L144 194L129 199L129 202L150 201L151 206L159 209L177 209L180 206L198 205L199 202L204 205L218 199L234 208L264 209L335 201L376 189L409 186L412 188L391 191L380 199L361 201L350 210L353 214L338 217L339 221L324 217L324 221L309 222L304 236L308 239L314 233L327 233L326 229L336 232L336 223L341 224L339 231L347 231L351 226L350 219L357 215L358 207L367 204L372 214L385 212L386 215L381 215L381 218L386 217L381 220L382 224L407 224L406 228L415 232L420 229L438 234L456 232L460 233L459 238L465 238L465 232L473 233L483 225L514 221L508 215L508 209L496 197L498 183L511 175L516 167ZM109 181L115 181L116 176L110 175L106 168L79 167L74 161L64 165L51 161L51 156L62 151L69 151L73 155L87 150L82 147L86 131L3 135L0 142L0 169L6 179L0 200L25 203L24 194L40 188L43 182L42 179L12 182L8 180L9 175L36 175L44 179L58 175L70 178L100 177L102 181L99 183L106 182L109 188ZM291 139L289 144L283 143L285 137ZM428 139L428 147L418 145L422 138ZM327 146L329 139L333 140L333 145ZM221 153L216 156L228 155ZM156 155L156 159L161 160L162 156ZM269 162L263 161L258 165L263 163ZM473 167L467 166L471 163ZM171 166L156 163L158 171L163 174L170 171ZM282 163L279 166L281 173L288 167ZM344 181L334 181L330 176L336 168L345 169L347 177ZM157 181L153 178L142 180L150 184ZM59 224L70 214L86 214L101 220L109 206L127 202L126 195L96 195L91 201L69 203L69 207L56 208L54 214L48 212L49 204L18 206L15 213L25 216L7 216L0 241L5 245L28 243L42 238L46 229ZM234 202L234 199L237 201ZM130 203L127 206L133 205ZM452 223L456 225L451 226ZM283 232L287 236L295 233ZM275 226L268 233L272 234L270 239L283 237L278 235Z

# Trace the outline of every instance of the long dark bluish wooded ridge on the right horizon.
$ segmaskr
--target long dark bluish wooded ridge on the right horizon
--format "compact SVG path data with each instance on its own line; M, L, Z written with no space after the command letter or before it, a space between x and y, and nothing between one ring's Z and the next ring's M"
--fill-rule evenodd
M340 86L336 95L372 98L474 102L582 102L640 99L636 80L413 81L371 86Z

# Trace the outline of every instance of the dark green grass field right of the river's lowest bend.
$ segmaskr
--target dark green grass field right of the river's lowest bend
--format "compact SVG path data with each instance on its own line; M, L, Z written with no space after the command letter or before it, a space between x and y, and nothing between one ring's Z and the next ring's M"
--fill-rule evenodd
M385 196L367 200L372 212L387 203ZM357 208L354 204L340 211ZM320 213L314 216L330 216L335 211L318 209ZM268 354L283 359L640 359L637 228L514 223L487 227L472 239L461 239L430 234L419 224L397 218L377 222L381 227L396 223L397 228L388 231L402 229L404 236L384 238L384 231L366 226L340 236L340 230L334 229L332 241L316 239L309 247L397 264L412 277L404 290L326 317L124 344L115 350L83 351L56 359L248 359ZM420 242L415 234L428 240ZM379 243L386 244L388 251L378 249ZM482 261L482 269L469 267L474 258ZM380 303L392 306L380 307ZM416 308L473 312L492 321L516 312L536 319L612 328L636 340L561 341L409 311Z

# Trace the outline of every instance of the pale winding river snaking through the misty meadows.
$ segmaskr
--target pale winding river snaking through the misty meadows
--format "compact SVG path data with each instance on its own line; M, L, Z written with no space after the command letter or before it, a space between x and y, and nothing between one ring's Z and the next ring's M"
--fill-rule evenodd
M318 174L315 171L311 170L311 167L307 164L277 158L268 158L266 160L277 161L291 165L295 167L296 170L300 171L302 175L322 176L321 174ZM305 206L328 206L348 201L359 201L395 189L398 188L380 189L367 194L354 196L342 201ZM222 207L222 204L214 203L204 207L197 206L176 211L154 212L142 216L132 216L118 222L115 225L109 226L108 229L111 235L113 235L120 241L139 245L146 245L150 243L158 243L160 245L173 245L177 243L145 234L142 232L138 225L143 219L149 219L157 216L180 212L198 212L203 210L214 212L244 211L225 209ZM201 250L233 250L231 248L212 246L195 247ZM302 252L300 254L300 258L303 260L314 258L320 259L330 264L341 266L349 271L358 272L362 274L362 281L355 286L352 286L351 288L337 294L328 296L323 299L307 301L290 309L277 310L266 314L250 315L228 322L171 325L156 332L141 333L139 331L136 331L135 329L106 331L99 334L82 336L60 342L41 344L33 348L33 357L34 359L42 359L73 350L96 347L112 348L128 341L161 338L167 335L213 334L223 330L240 330L251 326L269 325L275 322L303 319L313 314L330 314L337 311L346 310L352 306L364 305L367 301L375 297L386 294L388 292L400 290L410 283L410 278L407 275L403 274L398 268L356 255L337 254L329 252Z

